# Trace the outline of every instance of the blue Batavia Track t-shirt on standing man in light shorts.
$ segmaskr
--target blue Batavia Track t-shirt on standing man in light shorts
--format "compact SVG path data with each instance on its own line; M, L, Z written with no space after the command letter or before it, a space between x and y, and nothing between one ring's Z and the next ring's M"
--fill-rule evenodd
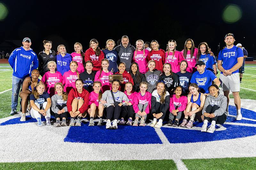
M220 50L218 60L222 61L222 67L225 70L231 69L237 63L237 58L244 57L243 50L236 46L228 49L227 47ZM239 69L234 70L232 73L238 73ZM220 74L223 74L220 72Z

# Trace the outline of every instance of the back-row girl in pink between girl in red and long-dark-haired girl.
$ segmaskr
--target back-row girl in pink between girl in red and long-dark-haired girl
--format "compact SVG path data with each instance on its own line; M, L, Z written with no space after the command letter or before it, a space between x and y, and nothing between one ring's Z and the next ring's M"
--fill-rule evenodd
M180 71L180 62L184 60L180 51L176 50L177 43L175 40L169 40L165 52L165 63L170 63L172 72L177 73Z

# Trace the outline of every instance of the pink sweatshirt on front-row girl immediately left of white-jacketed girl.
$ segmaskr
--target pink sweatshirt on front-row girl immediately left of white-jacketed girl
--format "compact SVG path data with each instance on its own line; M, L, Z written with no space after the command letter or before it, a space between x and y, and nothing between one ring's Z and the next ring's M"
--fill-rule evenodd
M145 105L146 103L148 103L148 106L145 110L145 112L147 114L149 114L149 109L151 108L151 93L150 92L146 92L144 94L144 96L142 96L140 94L140 92L138 92L135 96L134 96L134 99L133 99L133 109L134 109L134 112L135 113L138 113L140 110L139 110L139 107L138 107L138 104L142 104L142 105Z

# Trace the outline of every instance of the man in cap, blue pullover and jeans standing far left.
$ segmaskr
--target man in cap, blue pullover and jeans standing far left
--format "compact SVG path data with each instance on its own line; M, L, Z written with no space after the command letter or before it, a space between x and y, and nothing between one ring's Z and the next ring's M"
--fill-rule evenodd
M36 53L30 48L31 40L26 37L22 41L23 46L12 51L9 64L13 69L12 73L12 111L10 115L17 114L18 96L23 80L31 75L31 71L38 67ZM25 120L24 120L25 121Z

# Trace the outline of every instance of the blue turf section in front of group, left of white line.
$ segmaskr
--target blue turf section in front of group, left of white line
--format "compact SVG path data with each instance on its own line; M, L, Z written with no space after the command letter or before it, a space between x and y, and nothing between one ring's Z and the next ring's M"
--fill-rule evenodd
M162 144L154 128L122 126L118 129L106 129L105 126L70 127L64 142L100 143L100 144Z

